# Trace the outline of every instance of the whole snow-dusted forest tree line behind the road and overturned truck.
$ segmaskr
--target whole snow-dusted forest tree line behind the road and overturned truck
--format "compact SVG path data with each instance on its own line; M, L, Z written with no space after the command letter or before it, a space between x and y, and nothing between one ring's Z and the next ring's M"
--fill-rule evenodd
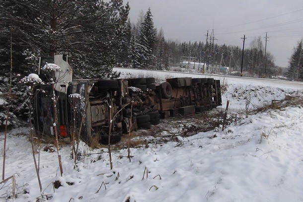
M129 9L123 0L1 1L0 75L7 75L10 68L10 45L13 72L21 75L37 72L41 55L54 54L70 56L75 78L110 77L114 66L164 70L180 66L182 56L239 71L241 47L212 40L166 40L163 29L157 30L153 24L151 9L142 11L137 22L129 20ZM263 41L259 36L245 45L243 71L247 76L280 73L273 56L268 51L265 54ZM303 60L301 54L297 53L297 60ZM294 60L290 66L300 66ZM290 68L289 77L302 79L301 69L294 75Z

